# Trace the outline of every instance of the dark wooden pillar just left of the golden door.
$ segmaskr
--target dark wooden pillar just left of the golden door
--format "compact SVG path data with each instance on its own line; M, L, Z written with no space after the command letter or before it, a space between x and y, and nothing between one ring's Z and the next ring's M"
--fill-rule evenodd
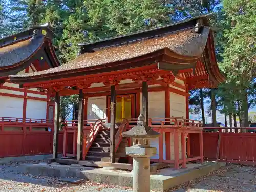
M116 129L116 90L110 91L110 162L115 163L115 129Z

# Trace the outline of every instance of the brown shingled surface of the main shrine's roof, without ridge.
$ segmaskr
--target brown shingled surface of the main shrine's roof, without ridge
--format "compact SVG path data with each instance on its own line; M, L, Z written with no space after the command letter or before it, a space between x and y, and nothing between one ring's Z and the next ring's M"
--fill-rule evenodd
M209 27L204 27L201 33L195 33L194 30L194 28L186 28L159 37L140 39L129 44L103 47L93 53L84 53L56 68L12 75L12 77L30 77L115 63L154 53L165 48L182 56L200 57L206 45L210 29Z

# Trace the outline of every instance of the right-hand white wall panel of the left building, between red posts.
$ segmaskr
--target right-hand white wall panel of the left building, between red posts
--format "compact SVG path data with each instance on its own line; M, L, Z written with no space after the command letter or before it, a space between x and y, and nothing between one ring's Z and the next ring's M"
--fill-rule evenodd
M47 103L45 101L28 99L26 118L46 119L46 107L47 107Z

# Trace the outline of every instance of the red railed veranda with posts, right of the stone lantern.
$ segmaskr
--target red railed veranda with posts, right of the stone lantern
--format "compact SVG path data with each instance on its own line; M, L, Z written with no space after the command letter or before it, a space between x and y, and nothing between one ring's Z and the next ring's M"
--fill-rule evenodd
M127 129L131 129L136 122L137 119L135 118L128 119L126 125ZM185 168L186 162L189 161L200 160L200 162L203 162L203 127L201 121L183 119L179 117L159 117L149 118L148 125L150 125L153 130L160 133L158 137L158 158L151 158L152 162L172 163L176 169L179 168L180 164ZM195 134L199 138L199 153L196 155L190 154L190 134ZM180 145L181 151L179 150ZM180 152L181 157L179 155Z

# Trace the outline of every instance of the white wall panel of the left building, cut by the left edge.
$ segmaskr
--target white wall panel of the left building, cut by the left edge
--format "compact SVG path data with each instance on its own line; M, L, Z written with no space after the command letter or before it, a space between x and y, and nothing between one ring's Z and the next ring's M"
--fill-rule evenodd
M0 117L22 117L23 99L0 96Z

